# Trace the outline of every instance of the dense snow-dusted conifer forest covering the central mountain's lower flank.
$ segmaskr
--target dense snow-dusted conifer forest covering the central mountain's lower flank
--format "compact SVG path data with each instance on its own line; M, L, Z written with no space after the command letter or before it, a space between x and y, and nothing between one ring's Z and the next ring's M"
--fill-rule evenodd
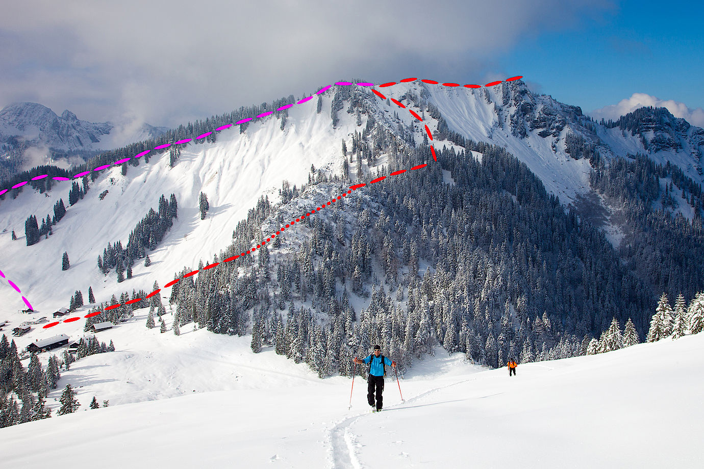
M350 155L363 181L432 162L429 147L370 121ZM682 290L684 278L691 280L688 295L702 289L702 276L694 274L673 274L664 283L636 274L637 256L616 250L601 230L565 210L513 155L462 143L465 150L439 150L437 165L369 185L304 219L253 257L183 278L170 298L177 321L215 333L252 333L255 352L270 345L320 376L353 372L351 357L376 342L402 372L434 346L497 367L509 358L585 354L614 324L627 325L629 340L641 342L655 289ZM470 150L482 153L481 161ZM384 153L389 165L376 166ZM453 184L444 182L443 169ZM219 258L249 250L316 200L346 191L337 176L311 173L300 198L287 184L282 205L262 198ZM605 181L617 176L600 168L593 184L605 190L613 186ZM671 222L667 212L650 221L666 234ZM700 217L689 229L700 249ZM636 237L629 249L639 243ZM669 260L682 273L702 268Z

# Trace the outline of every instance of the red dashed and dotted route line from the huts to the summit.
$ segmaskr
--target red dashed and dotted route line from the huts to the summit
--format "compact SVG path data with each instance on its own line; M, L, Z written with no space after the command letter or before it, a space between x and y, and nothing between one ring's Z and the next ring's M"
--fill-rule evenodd
M513 81L513 80L517 80L517 79L520 79L520 78L522 78L522 77L512 77L512 78L506 79L505 81L506 81L506 82L511 82L511 81ZM402 79L402 80L401 80L401 83L413 82L413 81L415 81L415 80L416 80L416 78L406 78L406 79ZM435 82L434 80L427 80L427 79L424 79L424 80L421 80L421 81L422 81L422 82L425 82L425 83L429 83L429 84L437 84L437 83L438 83L438 82ZM491 82L491 83L488 83L488 84L486 84L486 85L484 85L484 86L495 86L496 84L499 84L499 83L501 83L501 81L499 81L499 82ZM339 85L343 85L343 86L344 86L344 85L350 85L350 84L352 84L352 83L350 83L350 82L338 82L338 83L336 83L336 84L339 84ZM359 84L359 83L358 83L358 84ZM379 85L379 86L391 86L391 85L394 85L394 84L396 84L396 82L385 83L385 84L382 84L382 85ZM364 83L364 84L361 84L361 85L362 85L362 86L370 86L370 85L372 85L372 84ZM458 84L455 84L455 83L444 83L443 85L444 85L444 86L459 86ZM327 89L329 89L331 86L332 86L332 85L326 86L325 88L323 88L323 89L321 89L320 91L318 91L317 94L321 94L321 93L327 91ZM372 85L372 86L373 86L373 85ZM467 87L467 88L479 88L479 85L465 85L465 87ZM386 99L386 96L384 96L383 94L379 93L379 91L377 91L377 90L375 90L375 89L372 89L372 93L374 93L374 94L376 94L377 96L379 96L379 98ZM313 96L309 96L309 97L306 98L305 100L299 101L299 103L304 102L304 101L308 101L308 100L311 99L311 98L313 98ZM399 107L401 107L401 108L403 108L403 109L406 109L406 106L403 105L403 103L401 103L401 102L399 102L399 101L396 101L396 99L391 98L391 101L393 101L394 104L398 105ZM291 107L291 105L292 105L292 104L289 104L289 105L287 105L287 106L285 106L285 107ZM422 118L421 118L419 115L417 115L417 113L413 112L413 110L410 110L410 109L409 109L408 112L409 112L411 115L413 115L413 117L415 117L417 120L419 120L420 122L423 122ZM271 114L271 113L265 113L265 114L268 115L268 114ZM260 116L263 117L263 115L259 115L259 116L257 116L257 117L260 117ZM251 118L248 119L248 120L251 120ZM235 122L235 124L237 124L237 122ZM227 127L230 127L230 125L231 125L231 124L228 124ZM223 127L225 127L225 126L223 126ZM431 132L430 132L430 129L428 128L427 124L425 124L425 131L427 132L429 139L432 141L433 136L432 136L432 134L431 134ZM157 148L159 148L159 147L157 147ZM433 160L437 161L437 157L436 157L436 154L435 154L435 148L434 148L432 145L430 146L430 150L432 150ZM147 153L148 153L148 152L147 152ZM399 174L403 174L403 173L405 173L406 171L414 171L415 169L421 169L421 168L425 168L425 167L427 167L427 164L417 165L417 166L414 166L414 167L412 167L412 168L410 168L410 169L398 169L398 171L391 172L391 173L389 174L389 176L398 176ZM97 168L96 168L96 169L97 169ZM376 179L372 179L371 181L369 181L368 184L375 184L375 183L377 183L377 182L381 182L381 181L383 181L384 179L386 179L386 177L387 177L387 176L379 176L379 177L377 177ZM285 229L287 229L287 228L293 226L294 224L296 224L296 222L303 221L303 219L305 219L306 217L310 217L311 214L315 214L315 213L317 213L317 212L320 212L320 210L323 210L323 209L325 209L326 207L329 207L329 206L332 205L333 203L336 203L338 200L341 200L343 197L346 197L347 195L351 194L352 191L356 191L357 189L363 188L363 187L365 187L365 186L367 186L367 184L354 184L353 186L350 186L347 192L343 193L342 195L338 195L337 198L333 198L332 200L330 200L330 201L327 202L327 203L324 203L324 204L320 205L320 207L315 208L315 210L311 210L310 212L308 212L308 213L306 213L306 214L302 214L300 217L297 217L295 220L291 220L291 222L290 222L290 223L287 223L286 226L282 226L281 228L279 228L279 229L276 231L276 233L272 233L271 236L269 236L269 237L266 238L265 240L260 241L260 243L259 243L258 245L256 245L254 248L251 248L249 251L241 252L239 255L234 255L234 256L232 256L232 257L228 257L227 259L223 259L222 262L215 262L215 263L213 263L213 264L208 264L207 266L204 266L202 270L213 269L213 267L217 267L218 265L224 264L225 262L232 262L232 261L234 261L235 259L238 259L239 257L244 257L244 256L246 256L246 255L250 255L250 254L253 253L254 251L263 248L263 247L266 245L266 243L270 243L272 239L276 238L276 236L279 235L279 234L280 234L282 231L284 231ZM167 283L166 285L164 285L163 288L170 288L170 287L172 287L173 285L175 285L176 283L178 283L182 278L188 278L188 277L194 276L194 275L198 274L199 272L200 272L200 270L194 270L194 271L189 272L188 274L185 274L185 275L182 276L181 278L175 278L174 280L172 280L172 281L170 281L169 283ZM149 298L153 297L154 295L158 295L158 293L161 292L161 290L162 290L162 288L158 288L158 289L154 290L153 292L149 293L149 295L146 295L146 297L144 297L144 300L149 299ZM132 303L136 303L136 302L139 302L139 301L142 301L142 300L143 300L142 298L135 298L134 300L130 300L130 301L128 301L128 302L125 302L124 304L132 304ZM26 300L25 300L25 302L26 302ZM27 303L27 304L29 304L29 303ZM111 310L111 309L119 308L119 307L122 306L122 305L123 305L122 303L113 304L112 306L106 307L106 309L104 309L103 311L109 311L109 310ZM95 311L95 312L93 312L93 313L91 313L91 314L87 314L86 316L83 316L83 317L84 317L84 318L90 318L90 317L92 317L92 316L97 316L98 314L101 314L103 311ZM63 322L65 322L65 323L70 323L70 322L73 322L73 321L78 321L79 319L80 319L80 316L77 316L77 317L73 317L73 318L64 319ZM56 325L59 324L59 323L60 323L59 321L56 321L56 322L53 322L53 323L49 323L49 324L46 324L46 326L43 326L43 328L46 329L46 328L54 327L54 326L56 326Z

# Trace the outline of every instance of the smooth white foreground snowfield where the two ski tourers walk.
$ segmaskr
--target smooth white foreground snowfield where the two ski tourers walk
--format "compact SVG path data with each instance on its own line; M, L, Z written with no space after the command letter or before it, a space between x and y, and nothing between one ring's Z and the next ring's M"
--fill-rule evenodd
M99 333L117 352L63 372L77 413L0 429L7 467L698 468L704 334L487 371L438 350L369 413L364 380L319 380L249 337L176 337L134 321ZM168 319L167 315L167 321ZM122 343L130 345L121 347ZM348 410L352 392L352 408ZM401 402L401 394L406 399ZM90 410L95 396L106 409ZM168 398L168 399L161 399ZM152 399L161 399L151 401ZM120 405L122 404L122 405ZM119 449L119 450L116 450Z

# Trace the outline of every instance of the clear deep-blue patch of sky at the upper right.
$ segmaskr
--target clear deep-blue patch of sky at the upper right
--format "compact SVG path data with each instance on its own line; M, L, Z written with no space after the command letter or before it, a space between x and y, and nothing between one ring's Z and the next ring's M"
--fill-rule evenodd
M600 19L517 44L500 61L585 111L636 92L702 108L703 19L699 2L622 1Z

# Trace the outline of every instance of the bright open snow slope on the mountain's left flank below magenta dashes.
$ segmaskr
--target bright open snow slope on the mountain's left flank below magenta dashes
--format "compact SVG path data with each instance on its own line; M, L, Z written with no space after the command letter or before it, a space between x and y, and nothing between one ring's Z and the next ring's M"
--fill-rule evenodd
M328 110L330 99L323 100ZM261 196L275 200L284 179L300 187L308 182L311 165L339 171L341 139L354 129L354 119L346 113L341 113L337 129L332 129L329 114L317 114L312 101L289 110L284 131L279 120L269 117L251 124L243 134L233 127L220 132L216 143L184 147L172 168L168 152L152 157L148 164L130 166L127 176L115 167L92 183L83 200L68 207L52 236L29 247L24 236L25 219L30 214L38 219L46 214L53 216L59 198L68 205L70 186L59 183L44 195L25 190L17 199L7 198L0 205L0 270L43 314L67 307L75 290L81 290L87 299L89 286L98 302L109 301L113 294L125 290L151 291L154 281L164 285L184 266L195 269L199 260L208 263L227 248L237 223L246 218ZM100 200L103 191L108 193ZM204 220L198 209L201 191L210 204ZM178 219L161 245L149 252L151 266L135 264L133 278L119 284L114 272L103 276L97 259L108 242L122 240L126 245L130 231L149 207L156 210L159 197L165 194L168 199L170 193L177 198ZM11 240L13 230L18 240ZM70 259L68 271L61 271L64 251ZM0 304L7 316L0 319L24 321L23 316L12 315L25 306L6 282L0 286ZM50 332L62 333L64 328L70 333L82 328L82 323L62 324Z

